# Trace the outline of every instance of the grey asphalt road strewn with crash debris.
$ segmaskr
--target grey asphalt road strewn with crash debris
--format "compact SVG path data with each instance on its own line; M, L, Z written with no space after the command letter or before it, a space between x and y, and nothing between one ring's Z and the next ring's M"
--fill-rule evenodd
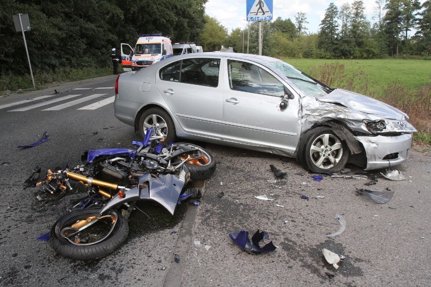
M160 207L141 205L151 219L134 212L126 243L111 256L81 262L56 255L47 242L36 238L48 232L82 194L76 190L59 202L41 205L35 198L37 189L23 189L22 183L34 165L53 168L69 161L72 166L79 164L86 149L131 147L131 140L138 137L113 116L112 103L88 110L89 105L113 97L114 81L115 76L107 76L0 98L0 285L425 286L431 282L431 157L417 151L397 167L406 180L379 178L377 184L365 186L367 181L360 179L325 176L313 181L294 159L205 145L217 161L217 171L205 182L201 205L179 206L174 217ZM36 107L74 94L80 95ZM94 94L103 95L58 107ZM52 97L5 106L42 95ZM36 106L11 111L31 105ZM31 149L16 148L45 131L50 140ZM270 164L285 171L288 179L274 182ZM378 205L355 194L356 188L364 187L381 192L389 187L395 195ZM274 200L255 199L258 195ZM347 226L330 238L326 234L339 228L335 213ZM250 237L257 229L267 231L277 250L261 255L241 251L229 233L242 229ZM346 256L337 270L325 262L322 248ZM180 256L179 263L174 254ZM325 272L335 277L330 279Z

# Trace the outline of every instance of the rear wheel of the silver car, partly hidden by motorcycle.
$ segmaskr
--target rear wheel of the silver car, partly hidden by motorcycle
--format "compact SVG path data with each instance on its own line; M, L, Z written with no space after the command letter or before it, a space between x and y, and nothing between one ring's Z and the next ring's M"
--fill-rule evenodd
M166 143L175 140L175 125L169 114L159 108L151 108L142 113L139 118L139 132L145 135L147 128L156 129L156 133L164 136Z

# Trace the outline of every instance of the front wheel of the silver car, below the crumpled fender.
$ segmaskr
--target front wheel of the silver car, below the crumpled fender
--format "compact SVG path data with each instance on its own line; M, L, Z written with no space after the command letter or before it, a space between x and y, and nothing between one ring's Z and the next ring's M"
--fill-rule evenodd
M317 172L337 172L349 159L349 148L326 126L309 130L300 142L298 160L306 169Z

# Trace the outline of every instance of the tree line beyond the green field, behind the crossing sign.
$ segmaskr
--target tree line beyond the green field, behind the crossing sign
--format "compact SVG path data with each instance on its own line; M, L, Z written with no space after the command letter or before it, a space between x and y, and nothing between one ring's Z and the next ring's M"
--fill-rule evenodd
M431 56L431 1L421 5L418 0L377 0L373 23L364 9L363 1L341 7L329 4L317 33L307 31L303 12L297 13L294 22L280 17L264 21L263 54L323 59ZM212 41L202 45L210 51L220 50L221 44L229 45L235 52L242 52L245 45L245 53L248 48L249 53L257 54L257 30L258 23L252 22L245 29L228 33L216 19L207 17L201 38ZM251 40L247 45L248 35Z

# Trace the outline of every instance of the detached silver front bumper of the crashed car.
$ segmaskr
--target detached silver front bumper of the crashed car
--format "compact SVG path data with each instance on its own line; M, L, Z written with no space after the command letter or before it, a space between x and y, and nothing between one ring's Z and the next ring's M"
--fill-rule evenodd
M387 168L404 162L409 156L413 135L355 136L364 147L367 156L365 170Z

